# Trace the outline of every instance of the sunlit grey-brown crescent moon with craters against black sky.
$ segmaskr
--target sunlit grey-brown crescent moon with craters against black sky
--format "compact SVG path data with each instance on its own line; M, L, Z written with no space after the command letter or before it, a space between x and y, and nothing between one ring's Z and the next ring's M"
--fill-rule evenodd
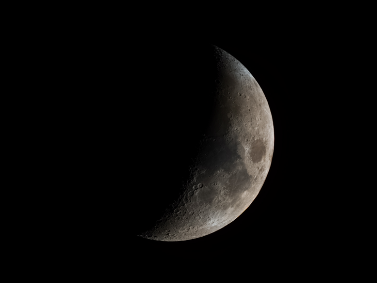
M267 99L235 57L212 46L212 112L188 177L153 225L137 235L157 241L203 237L239 217L260 192L272 161Z

